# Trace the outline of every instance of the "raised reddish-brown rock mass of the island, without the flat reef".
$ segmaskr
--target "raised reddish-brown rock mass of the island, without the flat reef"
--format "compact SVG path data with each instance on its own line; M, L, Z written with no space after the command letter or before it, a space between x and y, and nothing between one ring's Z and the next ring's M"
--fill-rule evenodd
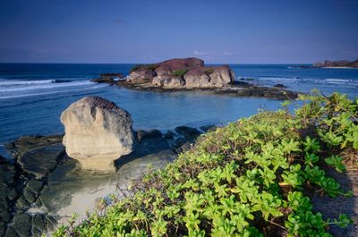
M199 58L176 58L135 66L127 81L149 83L166 89L221 88L234 83L229 66L205 66Z

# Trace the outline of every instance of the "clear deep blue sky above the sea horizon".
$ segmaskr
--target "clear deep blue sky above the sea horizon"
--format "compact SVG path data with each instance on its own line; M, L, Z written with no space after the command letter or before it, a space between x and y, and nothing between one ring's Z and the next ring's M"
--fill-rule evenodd
M2 63L358 59L358 1L2 0Z

